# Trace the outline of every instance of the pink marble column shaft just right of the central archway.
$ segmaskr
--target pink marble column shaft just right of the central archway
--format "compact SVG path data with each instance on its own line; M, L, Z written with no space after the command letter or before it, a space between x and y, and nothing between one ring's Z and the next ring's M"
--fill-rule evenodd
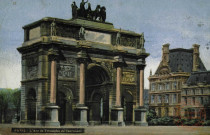
M121 92L120 92L121 76L122 76L122 68L117 67L116 106L121 106Z

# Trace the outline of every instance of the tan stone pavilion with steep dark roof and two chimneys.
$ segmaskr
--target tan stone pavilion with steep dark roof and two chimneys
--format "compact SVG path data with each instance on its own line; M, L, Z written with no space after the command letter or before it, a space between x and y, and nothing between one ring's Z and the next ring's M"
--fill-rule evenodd
M206 71L199 57L199 45L192 49L169 49L163 45L162 60L154 75L150 74L150 109L159 117L183 114L183 87L194 72ZM190 78L189 78L190 79ZM183 116L183 115L182 115Z

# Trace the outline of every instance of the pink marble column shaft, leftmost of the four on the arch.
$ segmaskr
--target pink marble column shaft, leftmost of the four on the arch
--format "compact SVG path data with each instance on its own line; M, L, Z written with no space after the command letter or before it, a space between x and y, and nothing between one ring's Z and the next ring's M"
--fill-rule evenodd
M56 61L51 61L50 103L56 103Z

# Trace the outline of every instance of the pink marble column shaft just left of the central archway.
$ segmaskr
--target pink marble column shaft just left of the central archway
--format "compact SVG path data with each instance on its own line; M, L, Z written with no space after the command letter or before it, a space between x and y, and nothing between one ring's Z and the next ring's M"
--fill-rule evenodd
M85 104L85 64L80 63L80 92L79 104Z

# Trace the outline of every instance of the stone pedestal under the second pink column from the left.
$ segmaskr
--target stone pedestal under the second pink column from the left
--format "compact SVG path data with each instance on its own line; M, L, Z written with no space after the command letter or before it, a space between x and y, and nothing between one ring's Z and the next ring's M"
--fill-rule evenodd
M74 121L75 125L79 125L79 126L88 126L88 122L87 122L87 110L88 107L84 106L84 107L77 107L76 108L76 112L78 113L78 119Z

